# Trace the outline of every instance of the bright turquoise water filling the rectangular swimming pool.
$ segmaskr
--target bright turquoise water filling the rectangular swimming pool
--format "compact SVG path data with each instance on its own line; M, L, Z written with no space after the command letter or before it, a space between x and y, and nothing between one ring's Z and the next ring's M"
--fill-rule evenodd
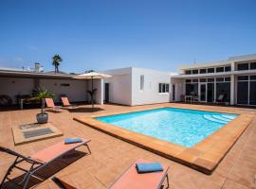
M191 147L222 128L237 114L161 108L143 112L97 117L122 129Z

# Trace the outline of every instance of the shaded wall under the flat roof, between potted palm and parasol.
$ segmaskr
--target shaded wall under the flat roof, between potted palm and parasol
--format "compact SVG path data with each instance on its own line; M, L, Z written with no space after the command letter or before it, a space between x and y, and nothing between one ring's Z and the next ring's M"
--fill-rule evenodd
M73 79L40 79L40 86L45 87L51 94L66 94L70 101L86 101L87 87L85 80ZM69 86L61 86L69 84Z

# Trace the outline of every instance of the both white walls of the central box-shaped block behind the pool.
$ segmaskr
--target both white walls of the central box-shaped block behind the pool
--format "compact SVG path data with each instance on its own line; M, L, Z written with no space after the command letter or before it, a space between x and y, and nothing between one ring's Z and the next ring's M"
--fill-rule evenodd
M169 72L128 67L103 71L112 77L104 79L109 83L109 102L137 106L170 102L171 76ZM165 93L159 93L159 84L169 86Z

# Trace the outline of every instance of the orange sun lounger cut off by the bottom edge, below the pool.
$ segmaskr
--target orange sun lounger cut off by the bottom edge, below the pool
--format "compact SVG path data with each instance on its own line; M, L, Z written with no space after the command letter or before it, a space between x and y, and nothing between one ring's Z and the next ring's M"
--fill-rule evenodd
M137 160L136 163L149 163L144 160ZM169 188L168 178L168 166L162 165L163 171L151 172L151 173L137 173L136 163L133 163L118 180L110 186L111 189L156 189L161 188L162 183L167 179L167 185Z

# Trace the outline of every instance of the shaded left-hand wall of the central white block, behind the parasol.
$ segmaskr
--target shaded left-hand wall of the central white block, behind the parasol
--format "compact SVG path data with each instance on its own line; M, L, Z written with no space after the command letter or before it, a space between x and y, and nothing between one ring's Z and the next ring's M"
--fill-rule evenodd
M103 73L112 76L104 79L104 83L109 83L109 102L132 106L132 68ZM104 91L102 94L104 95Z

